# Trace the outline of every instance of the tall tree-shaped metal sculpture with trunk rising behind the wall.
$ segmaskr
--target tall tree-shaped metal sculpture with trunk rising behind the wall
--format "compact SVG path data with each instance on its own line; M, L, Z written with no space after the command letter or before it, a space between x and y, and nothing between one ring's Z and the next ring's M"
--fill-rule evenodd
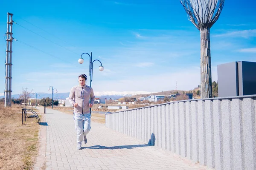
M218 20L224 0L180 0L189 21L201 36L201 98L212 97L212 71L210 54L210 28Z

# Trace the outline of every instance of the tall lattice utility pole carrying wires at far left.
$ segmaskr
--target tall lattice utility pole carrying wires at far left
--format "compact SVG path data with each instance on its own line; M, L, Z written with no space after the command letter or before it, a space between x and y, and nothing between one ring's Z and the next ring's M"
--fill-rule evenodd
M4 107L12 106L12 14L7 13L6 31L6 74L5 74L5 101Z

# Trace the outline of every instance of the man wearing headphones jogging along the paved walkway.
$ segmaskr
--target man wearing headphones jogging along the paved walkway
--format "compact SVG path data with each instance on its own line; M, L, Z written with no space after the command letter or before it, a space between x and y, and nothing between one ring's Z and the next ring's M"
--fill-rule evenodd
M87 143L86 135L90 131L90 108L93 107L95 96L93 89L85 85L87 76L81 74L78 77L79 85L71 88L69 101L74 107L74 120L77 135L77 149L81 149L82 141Z

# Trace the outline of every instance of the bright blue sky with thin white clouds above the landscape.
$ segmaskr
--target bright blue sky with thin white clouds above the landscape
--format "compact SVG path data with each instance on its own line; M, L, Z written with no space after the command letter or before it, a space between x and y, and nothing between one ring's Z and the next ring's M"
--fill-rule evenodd
M0 6L2 35L7 12L18 24L13 25L18 41L12 44L12 94L22 88L50 93L49 86L69 92L79 74L89 77L89 57L84 54L84 63L78 63L84 52L105 67L100 72L100 63L93 63L96 95L169 91L176 82L179 90L191 90L200 83L200 32L180 0L13 0ZM212 81L218 80L219 64L256 62L255 6L254 0L225 1L210 33ZM0 94L5 49L2 38Z

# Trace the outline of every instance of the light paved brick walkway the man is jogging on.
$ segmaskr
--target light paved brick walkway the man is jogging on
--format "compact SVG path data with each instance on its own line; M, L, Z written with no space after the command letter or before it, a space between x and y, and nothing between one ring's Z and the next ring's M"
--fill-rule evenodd
M44 113L43 108L39 108ZM205 170L179 156L92 122L87 144L76 150L73 115L47 109L34 170Z

